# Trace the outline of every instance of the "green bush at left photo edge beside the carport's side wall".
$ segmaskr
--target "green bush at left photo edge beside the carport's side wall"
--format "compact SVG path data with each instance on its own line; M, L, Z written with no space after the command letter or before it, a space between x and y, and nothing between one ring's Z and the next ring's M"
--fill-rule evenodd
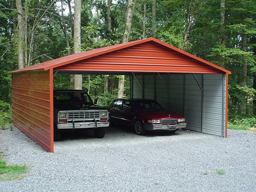
M11 105L0 100L0 128L6 129L6 126L11 123Z

